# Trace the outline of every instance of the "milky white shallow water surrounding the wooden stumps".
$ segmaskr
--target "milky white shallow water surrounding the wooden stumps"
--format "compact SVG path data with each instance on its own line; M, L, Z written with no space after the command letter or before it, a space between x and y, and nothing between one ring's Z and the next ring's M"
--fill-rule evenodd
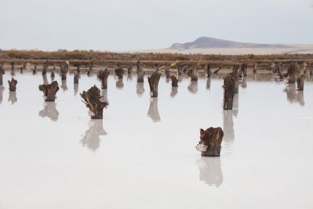
M223 75L178 88L161 77L109 77L109 106L91 120L79 93L96 75L61 82L56 102L39 84L50 73L15 72L0 86L0 208L312 208L313 82L303 92L271 73L248 75L223 110ZM222 127L220 157L195 150L200 128Z

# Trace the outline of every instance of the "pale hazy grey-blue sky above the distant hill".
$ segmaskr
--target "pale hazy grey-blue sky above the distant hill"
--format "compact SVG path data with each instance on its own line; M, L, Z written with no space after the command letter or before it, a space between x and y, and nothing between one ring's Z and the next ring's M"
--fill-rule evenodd
M1 0L0 48L161 49L201 36L313 44L313 0Z

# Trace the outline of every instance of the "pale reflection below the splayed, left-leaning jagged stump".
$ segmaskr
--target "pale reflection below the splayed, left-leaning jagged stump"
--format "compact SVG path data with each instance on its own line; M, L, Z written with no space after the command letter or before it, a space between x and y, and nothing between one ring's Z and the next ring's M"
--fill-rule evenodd
M103 129L103 119L91 119L88 126L88 130L83 134L83 139L79 142L83 147L87 147L95 153L100 147L100 136L106 135L107 132Z

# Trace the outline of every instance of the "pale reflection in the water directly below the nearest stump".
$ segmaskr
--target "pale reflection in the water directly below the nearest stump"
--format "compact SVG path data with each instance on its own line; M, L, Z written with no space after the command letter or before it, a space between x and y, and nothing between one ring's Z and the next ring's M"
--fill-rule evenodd
M220 157L204 157L195 161L200 171L199 180L205 184L219 187L223 183L223 172L221 169Z

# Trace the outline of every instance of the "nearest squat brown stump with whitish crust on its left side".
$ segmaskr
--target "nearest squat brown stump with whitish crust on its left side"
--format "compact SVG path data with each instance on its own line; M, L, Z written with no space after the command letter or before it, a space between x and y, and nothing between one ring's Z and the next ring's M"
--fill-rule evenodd
M202 156L215 157L220 155L224 132L220 127L209 127L207 130L200 129L200 141L195 149Z

